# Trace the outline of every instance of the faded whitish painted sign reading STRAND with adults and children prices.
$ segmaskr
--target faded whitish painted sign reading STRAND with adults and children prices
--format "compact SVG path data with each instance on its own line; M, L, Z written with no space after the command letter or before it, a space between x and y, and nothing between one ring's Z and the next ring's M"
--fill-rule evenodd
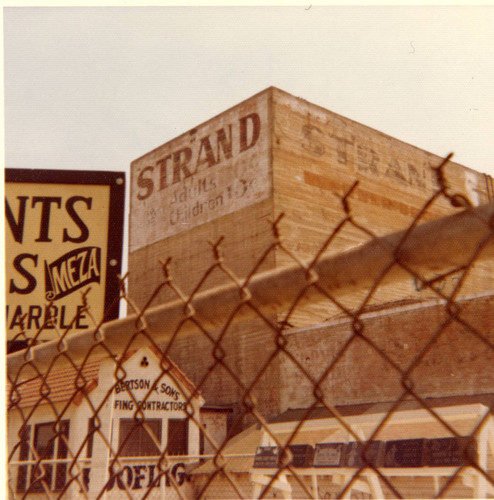
M267 110L259 95L132 163L131 252L269 196Z

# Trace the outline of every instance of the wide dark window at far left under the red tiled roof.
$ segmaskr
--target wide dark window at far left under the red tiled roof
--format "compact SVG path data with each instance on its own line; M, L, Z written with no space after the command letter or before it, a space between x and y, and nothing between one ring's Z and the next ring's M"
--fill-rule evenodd
M57 422L36 424L34 436L31 435L31 426L22 430L19 459L40 460L41 464L19 466L17 473L17 491L19 493L26 491L31 493L44 492L45 488L49 491L64 489L67 479L67 463L44 463L43 460L67 458L66 441L68 437L68 420L63 420L58 424ZM28 480L29 484L26 484Z

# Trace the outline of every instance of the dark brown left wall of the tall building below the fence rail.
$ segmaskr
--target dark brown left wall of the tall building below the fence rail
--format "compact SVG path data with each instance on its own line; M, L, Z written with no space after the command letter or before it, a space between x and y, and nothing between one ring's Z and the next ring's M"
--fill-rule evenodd
M215 348L214 341L220 335L221 343ZM254 403L264 415L280 411L285 387L281 358L271 359L276 349L275 332L258 319L214 332L211 339L199 330L196 337L178 336L169 354L197 385L207 404L231 406L238 432L243 425L257 421L244 401Z

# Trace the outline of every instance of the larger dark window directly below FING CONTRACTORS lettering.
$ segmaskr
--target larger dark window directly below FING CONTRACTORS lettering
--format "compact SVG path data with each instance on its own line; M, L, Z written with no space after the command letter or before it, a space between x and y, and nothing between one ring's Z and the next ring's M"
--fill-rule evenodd
M161 418L140 423L133 418L120 420L118 449L120 457L153 457L161 455Z

